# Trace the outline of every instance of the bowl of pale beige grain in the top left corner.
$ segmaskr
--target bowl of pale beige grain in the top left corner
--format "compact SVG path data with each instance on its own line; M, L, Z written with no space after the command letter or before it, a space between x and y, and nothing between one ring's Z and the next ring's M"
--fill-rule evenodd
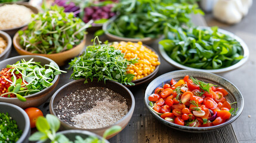
M28 2L6 2L0 4L0 30L10 36L26 26L31 20L31 14L39 13L39 9Z

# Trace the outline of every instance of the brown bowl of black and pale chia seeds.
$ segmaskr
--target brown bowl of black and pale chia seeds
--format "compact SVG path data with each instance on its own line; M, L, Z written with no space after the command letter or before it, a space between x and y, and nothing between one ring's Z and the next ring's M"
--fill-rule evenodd
M115 125L124 129L135 107L131 91L110 80L106 83L97 79L84 81L67 83L51 98L50 113L60 119L61 129L88 130L100 136Z

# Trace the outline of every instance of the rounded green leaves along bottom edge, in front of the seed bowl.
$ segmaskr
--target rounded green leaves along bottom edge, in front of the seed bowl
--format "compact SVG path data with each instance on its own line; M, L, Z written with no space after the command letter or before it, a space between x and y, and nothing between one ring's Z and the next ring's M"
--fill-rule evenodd
M50 139L53 143L73 143L73 141L70 141L69 138L63 134L56 134L60 128L60 120L58 120L58 118L52 114L47 114L46 118L38 117L38 120L36 120L36 128L39 131L33 133L33 135L29 137L29 141L45 141L46 139ZM121 129L121 126L112 126L111 128L107 129L104 132L102 141L95 136L89 136L85 139L83 139L81 136L75 136L75 143L104 143L107 136L113 135L114 133L119 132Z

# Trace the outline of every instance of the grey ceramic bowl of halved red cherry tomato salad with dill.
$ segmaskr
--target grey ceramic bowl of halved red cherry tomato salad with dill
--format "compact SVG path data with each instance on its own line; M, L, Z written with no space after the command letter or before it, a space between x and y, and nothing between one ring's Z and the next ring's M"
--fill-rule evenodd
M165 125L185 132L205 132L234 122L243 97L233 83L216 74L178 70L147 86L144 103Z

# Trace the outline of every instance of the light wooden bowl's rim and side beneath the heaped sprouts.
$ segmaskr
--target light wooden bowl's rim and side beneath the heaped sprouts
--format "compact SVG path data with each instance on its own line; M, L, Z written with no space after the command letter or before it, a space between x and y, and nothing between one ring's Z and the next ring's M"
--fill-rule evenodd
M27 26L23 27L21 30L26 30L27 29ZM41 56L48 56L48 55L51 55L51 56L58 56L60 54L69 54L68 52L72 52L72 51L76 51L77 48L79 48L79 45L82 45L83 43L86 42L86 35L84 35L84 39L81 40L81 42L74 46L72 49L69 49L67 51L63 51L63 52L58 52L58 53L54 53L54 54L36 54L36 53L32 53L32 52L29 52L29 51L26 51L24 50L23 48L21 48L21 45L19 43L20 41L20 38L18 37L18 32L15 33L15 35L13 36L13 45L14 45L14 48L16 49L16 51L22 51L26 54L30 54L30 55L41 55ZM17 42L18 41L18 42Z

